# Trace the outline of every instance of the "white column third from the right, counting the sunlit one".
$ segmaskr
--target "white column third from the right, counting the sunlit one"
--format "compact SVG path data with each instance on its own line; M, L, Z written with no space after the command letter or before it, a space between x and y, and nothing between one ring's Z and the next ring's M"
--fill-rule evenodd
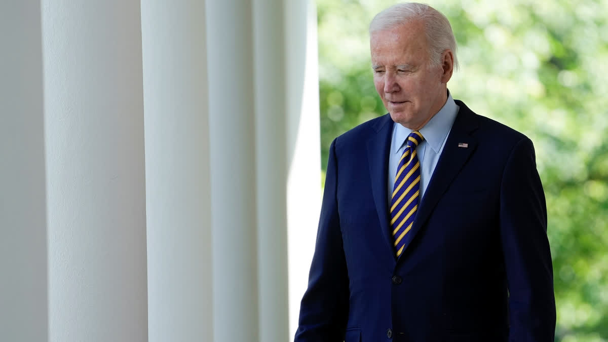
M259 336L251 8L206 3L215 342Z

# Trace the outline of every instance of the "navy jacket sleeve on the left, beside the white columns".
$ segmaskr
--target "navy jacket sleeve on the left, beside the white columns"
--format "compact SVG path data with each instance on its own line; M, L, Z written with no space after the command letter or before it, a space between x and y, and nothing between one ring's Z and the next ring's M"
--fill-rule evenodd
M336 140L329 154L313 263L295 342L344 341L348 319L348 275L336 197Z

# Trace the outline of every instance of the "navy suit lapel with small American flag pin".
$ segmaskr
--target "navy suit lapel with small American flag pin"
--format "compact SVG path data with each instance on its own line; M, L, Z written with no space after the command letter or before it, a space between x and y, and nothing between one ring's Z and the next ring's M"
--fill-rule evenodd
M464 103L458 100L455 101L460 106L460 110L454 120L452 130L449 136L447 136L446 144L430 178L429 185L418 206L412 230L409 232L409 234L414 234L414 236L420 231L441 196L443 196L444 192L446 192L449 185L458 175L458 172L460 172L475 151L475 148L477 148L477 139L469 134L477 128L474 113ZM461 143L466 144L466 147ZM409 241L411 243L413 239ZM408 245L409 243L404 247L404 250L407 250Z

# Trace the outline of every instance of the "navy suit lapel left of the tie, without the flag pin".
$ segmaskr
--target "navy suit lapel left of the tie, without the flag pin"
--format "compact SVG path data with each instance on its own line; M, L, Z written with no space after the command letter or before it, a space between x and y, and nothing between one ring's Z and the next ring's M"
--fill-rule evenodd
M395 259L393 251L393 237L389 228L389 208L388 208L388 172L389 172L389 149L390 138L393 131L393 120L389 114L378 120L374 125L376 134L367 142L367 158L370 167L371 192L373 193L376 211L380 220L381 234L386 242L386 251L390 257Z

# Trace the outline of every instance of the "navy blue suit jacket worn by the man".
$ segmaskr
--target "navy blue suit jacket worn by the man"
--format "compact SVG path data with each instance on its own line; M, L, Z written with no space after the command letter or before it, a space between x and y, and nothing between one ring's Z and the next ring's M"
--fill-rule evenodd
M392 119L370 120L331 144L296 342L554 340L547 211L532 142L457 104L399 259L387 203Z

